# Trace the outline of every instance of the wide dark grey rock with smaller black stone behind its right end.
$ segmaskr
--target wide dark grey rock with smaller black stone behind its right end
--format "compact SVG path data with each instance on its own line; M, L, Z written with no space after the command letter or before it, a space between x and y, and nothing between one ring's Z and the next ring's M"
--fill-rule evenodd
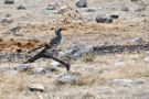
M97 15L96 16L96 22L97 23L111 23L113 19L108 15Z

